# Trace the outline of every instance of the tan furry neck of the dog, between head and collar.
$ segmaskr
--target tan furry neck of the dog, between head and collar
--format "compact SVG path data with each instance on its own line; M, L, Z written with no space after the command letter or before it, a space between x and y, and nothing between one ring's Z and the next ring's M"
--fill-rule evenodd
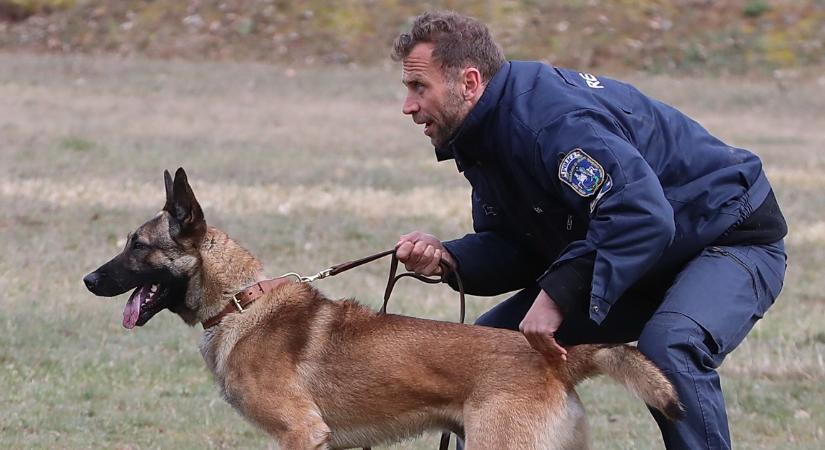
M232 295L264 279L263 265L223 231L209 227L201 243L201 276L190 280L187 304L198 305L196 320L216 315ZM197 285L193 285L193 284Z

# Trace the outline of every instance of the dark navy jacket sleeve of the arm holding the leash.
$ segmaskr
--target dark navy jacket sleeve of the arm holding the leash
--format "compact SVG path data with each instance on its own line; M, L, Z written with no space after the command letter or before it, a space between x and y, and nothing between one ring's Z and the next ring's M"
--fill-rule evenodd
M507 232L501 216L485 211L473 193L475 233L444 242L458 264L464 291L471 295L498 295L535 282L546 269L537 255ZM454 276L447 282L458 289Z

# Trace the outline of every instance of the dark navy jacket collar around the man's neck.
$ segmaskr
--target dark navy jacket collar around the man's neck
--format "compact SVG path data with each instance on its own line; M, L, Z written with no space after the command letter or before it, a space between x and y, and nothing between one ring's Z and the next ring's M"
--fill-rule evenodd
M481 155L471 153L481 150L481 144L484 141L481 129L483 129L484 122L487 121L493 111L498 109L499 100L504 94L509 75L510 62L506 61L498 69L498 72L493 75L490 82L487 83L481 98L467 114L453 138L446 146L435 149L435 156L438 161L455 159L459 172L463 172L464 169L476 163Z

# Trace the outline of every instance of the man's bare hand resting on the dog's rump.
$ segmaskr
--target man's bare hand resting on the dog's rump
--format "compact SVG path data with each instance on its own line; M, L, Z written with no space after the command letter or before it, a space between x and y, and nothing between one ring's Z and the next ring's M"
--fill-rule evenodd
M556 342L554 336L563 320L564 315L556 302L542 289L521 321L519 330L527 338L530 346L547 358L561 357L567 361L567 350Z

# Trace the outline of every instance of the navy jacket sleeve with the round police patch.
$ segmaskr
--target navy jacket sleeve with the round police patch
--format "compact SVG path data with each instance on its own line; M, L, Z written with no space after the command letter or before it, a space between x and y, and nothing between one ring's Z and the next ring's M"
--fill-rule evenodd
M611 118L563 116L536 141L536 176L580 217L572 242L538 278L563 311L583 308L601 323L613 303L661 257L675 235L673 209L656 173Z

